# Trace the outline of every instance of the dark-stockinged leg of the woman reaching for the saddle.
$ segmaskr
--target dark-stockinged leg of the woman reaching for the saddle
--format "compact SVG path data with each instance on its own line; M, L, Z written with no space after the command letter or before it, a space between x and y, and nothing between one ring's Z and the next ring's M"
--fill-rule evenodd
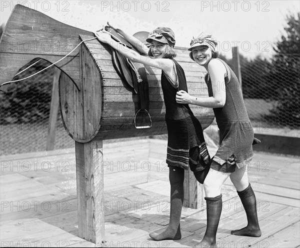
M170 221L167 228L161 233L149 233L149 236L156 240L180 239L180 216L183 203L183 181L184 169L169 166L170 193Z

